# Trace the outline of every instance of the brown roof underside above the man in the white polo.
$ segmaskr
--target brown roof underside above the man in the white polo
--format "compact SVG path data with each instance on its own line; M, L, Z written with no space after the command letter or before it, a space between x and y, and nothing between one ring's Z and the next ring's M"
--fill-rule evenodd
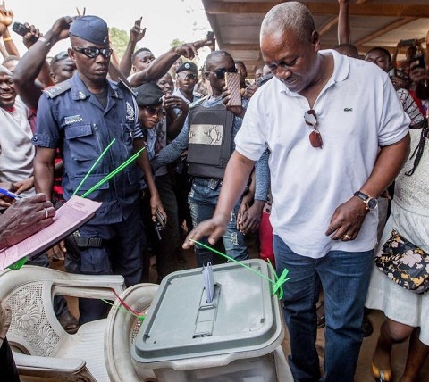
M202 0L220 49L245 62L251 77L264 65L259 29L265 13L282 1ZM321 36L322 48L338 44L338 0L307 0ZM429 0L350 0L351 43L360 53L374 46L394 52L400 39L425 41L429 30ZM424 45L425 46L425 45Z

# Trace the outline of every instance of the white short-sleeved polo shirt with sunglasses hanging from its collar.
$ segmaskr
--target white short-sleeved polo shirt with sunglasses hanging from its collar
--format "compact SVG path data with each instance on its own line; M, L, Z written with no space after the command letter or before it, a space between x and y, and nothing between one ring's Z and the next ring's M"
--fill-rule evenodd
M270 149L273 232L293 252L312 258L332 250L374 248L377 211L367 214L353 241L335 241L324 233L335 209L369 178L379 145L400 141L409 125L391 80L374 63L332 50L319 53L334 58L332 78L313 107L323 148L308 140L307 98L276 78L253 95L235 138L236 150L252 161Z

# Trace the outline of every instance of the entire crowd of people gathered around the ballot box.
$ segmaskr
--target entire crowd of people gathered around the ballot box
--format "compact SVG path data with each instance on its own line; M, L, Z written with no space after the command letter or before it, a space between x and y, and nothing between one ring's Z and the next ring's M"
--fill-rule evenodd
M144 148L88 195L103 202L96 216L55 247L67 271L120 274L133 286L147 280L155 254L161 282L184 261L186 231L185 249L193 240L219 246L222 237L238 261L248 258L246 235L257 233L261 258L279 274L289 270L282 303L296 381L353 381L365 306L387 317L374 378L392 380L392 345L410 337L400 380L416 381L429 354L429 297L384 275L374 253L392 229L429 253L429 76L420 59L429 54L418 39L400 41L393 57L383 47L359 52L349 0L338 3L339 45L330 50L321 50L306 6L274 6L260 32L265 66L253 81L211 35L157 58L137 48L141 19L121 60L97 16L62 17L43 35L26 24L20 58L3 4L0 183L27 197L0 196L0 249L23 238L14 233L22 226L31 227L27 236L46 227L71 195ZM68 51L49 59L66 38ZM211 53L199 70L192 59L203 46ZM225 73L235 72L241 105L232 106ZM220 261L198 245L195 256L198 266ZM47 254L33 263L48 266ZM322 291L323 375L315 347ZM78 322L55 297L70 333L107 309L80 298Z

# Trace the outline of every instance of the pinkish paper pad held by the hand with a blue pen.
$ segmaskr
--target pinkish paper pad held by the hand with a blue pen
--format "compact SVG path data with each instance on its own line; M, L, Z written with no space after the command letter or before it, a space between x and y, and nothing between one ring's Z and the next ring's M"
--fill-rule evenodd
M54 222L20 243L0 250L0 270L51 248L90 220L101 203L80 196L71 196L55 213Z

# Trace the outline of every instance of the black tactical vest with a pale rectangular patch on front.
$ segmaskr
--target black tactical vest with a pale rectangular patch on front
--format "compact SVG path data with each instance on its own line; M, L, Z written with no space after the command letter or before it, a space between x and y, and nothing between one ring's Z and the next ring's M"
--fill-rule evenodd
M234 114L225 105L199 105L189 111L188 173L204 178L223 179L232 154Z

